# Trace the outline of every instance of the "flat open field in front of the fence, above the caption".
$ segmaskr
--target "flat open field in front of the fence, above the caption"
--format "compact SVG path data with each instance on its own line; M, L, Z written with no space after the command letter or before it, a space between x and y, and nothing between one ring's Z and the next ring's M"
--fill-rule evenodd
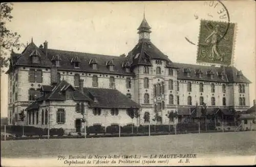
M177 134L137 137L63 138L1 141L1 156L53 157L89 154L255 155L256 132Z

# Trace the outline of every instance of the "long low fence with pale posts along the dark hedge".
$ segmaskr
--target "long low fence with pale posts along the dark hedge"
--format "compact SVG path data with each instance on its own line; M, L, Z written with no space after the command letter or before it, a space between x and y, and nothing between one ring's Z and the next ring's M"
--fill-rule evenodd
M134 135L161 135L161 134L185 134L185 133L205 133L205 132L227 132L227 131L243 131L255 130L256 126L253 122L194 122L194 123L178 123L176 125L111 125L104 127L101 125L89 126L86 129L87 136L84 136L84 129L76 134L83 137L90 136L134 136ZM4 132L4 133L2 133ZM6 140L9 135L15 137L21 136L66 136L65 131L60 128L37 128L33 126L17 126L4 125L1 126L1 140ZM68 136L73 134L69 133Z

